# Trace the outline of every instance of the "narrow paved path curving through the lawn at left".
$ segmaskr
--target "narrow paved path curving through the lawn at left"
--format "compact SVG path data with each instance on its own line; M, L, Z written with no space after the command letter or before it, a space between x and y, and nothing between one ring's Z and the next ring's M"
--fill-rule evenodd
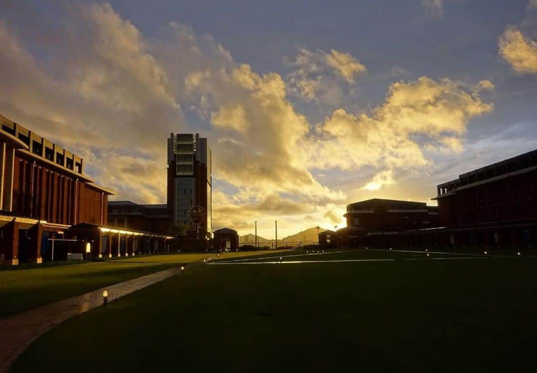
M193 265L195 264L191 263L188 269L192 269ZM180 272L179 267L162 270L13 316L0 318L0 373L7 372L15 359L41 334L70 317L102 305L103 290L108 290L108 302L111 302Z

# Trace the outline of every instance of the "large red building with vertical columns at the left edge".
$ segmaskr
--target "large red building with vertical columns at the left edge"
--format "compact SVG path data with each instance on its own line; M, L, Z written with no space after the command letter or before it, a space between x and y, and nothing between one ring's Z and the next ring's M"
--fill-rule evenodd
M42 262L49 239L78 223L107 224L111 191L84 160L0 115L0 261Z

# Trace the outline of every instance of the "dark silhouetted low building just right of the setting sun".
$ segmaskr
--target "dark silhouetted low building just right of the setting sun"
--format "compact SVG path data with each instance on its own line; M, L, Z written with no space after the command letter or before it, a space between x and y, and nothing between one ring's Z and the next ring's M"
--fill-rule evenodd
M425 202L374 198L347 205L346 228L336 232L338 245L364 246L364 238L373 232L397 232L431 228L438 224L438 208Z

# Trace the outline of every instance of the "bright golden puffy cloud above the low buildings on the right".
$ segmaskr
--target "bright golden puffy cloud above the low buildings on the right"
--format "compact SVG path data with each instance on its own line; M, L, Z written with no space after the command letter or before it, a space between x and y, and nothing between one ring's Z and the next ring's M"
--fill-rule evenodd
M491 86L485 81L466 86L428 77L393 83L384 103L371 114L354 115L340 108L318 123L317 138L310 144L310 167L426 167L431 161L425 149L461 151L459 140L466 133L468 120L492 110L492 104L484 103L479 96L481 90ZM391 180L388 175L391 173L381 173L379 180ZM380 188L379 180L369 186Z

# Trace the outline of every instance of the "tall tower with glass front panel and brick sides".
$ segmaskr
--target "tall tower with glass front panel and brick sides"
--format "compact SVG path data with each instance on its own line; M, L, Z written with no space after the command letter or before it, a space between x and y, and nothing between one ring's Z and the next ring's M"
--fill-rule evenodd
M205 209L200 224L200 237L212 237L212 170L211 148L207 138L199 134L171 134L168 138L168 208L172 223L183 223L191 228L188 217L192 206Z

